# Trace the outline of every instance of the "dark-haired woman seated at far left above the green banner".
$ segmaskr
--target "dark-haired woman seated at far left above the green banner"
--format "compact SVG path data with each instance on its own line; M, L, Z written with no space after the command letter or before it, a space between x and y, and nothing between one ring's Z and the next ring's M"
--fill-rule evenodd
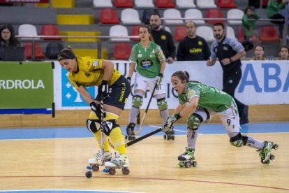
M1 25L0 33L0 47L20 47L20 42L15 38L14 29L11 24Z

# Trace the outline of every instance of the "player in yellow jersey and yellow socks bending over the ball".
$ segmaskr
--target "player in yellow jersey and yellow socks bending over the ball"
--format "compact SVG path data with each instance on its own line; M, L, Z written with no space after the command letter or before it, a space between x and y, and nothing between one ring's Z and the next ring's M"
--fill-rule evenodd
M124 110L124 105L131 86L128 80L114 69L110 61L94 57L76 57L72 48L64 48L58 55L60 65L68 71L68 79L79 92L85 102L91 106L87 129L94 134L98 146L101 148L101 117L103 117L103 146L104 153L100 151L94 158L89 159L89 164L97 166L105 162L105 167L124 166L128 167L128 155L117 119ZM97 86L98 95L93 99L85 87ZM101 97L102 96L102 97ZM101 115L101 99L103 99L103 115ZM113 143L117 156L112 159L110 145ZM101 160L100 160L101 159ZM112 159L112 160L111 160Z

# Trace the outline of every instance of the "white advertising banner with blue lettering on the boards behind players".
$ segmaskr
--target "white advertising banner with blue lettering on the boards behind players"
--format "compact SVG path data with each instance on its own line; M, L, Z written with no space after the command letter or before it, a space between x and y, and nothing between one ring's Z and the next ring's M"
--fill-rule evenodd
M115 68L128 76L129 62L114 61ZM175 108L178 104L177 94L172 90L170 76L175 71L188 71L190 80L198 80L206 85L222 89L223 71L216 62L214 66L207 66L206 62L174 62L165 67L163 85L167 92L168 108ZM89 109L67 78L67 71L61 69L55 62L54 71L54 101L56 110ZM134 77L131 84L133 85ZM87 88L91 96L97 94L96 87ZM133 90L133 88L132 88ZM142 109L147 108L150 92L147 92L142 103ZM248 105L254 104L283 104L289 103L289 61L242 61L242 79L235 91L235 97ZM132 96L128 97L125 108L131 108ZM150 107L156 106L156 99L152 99Z

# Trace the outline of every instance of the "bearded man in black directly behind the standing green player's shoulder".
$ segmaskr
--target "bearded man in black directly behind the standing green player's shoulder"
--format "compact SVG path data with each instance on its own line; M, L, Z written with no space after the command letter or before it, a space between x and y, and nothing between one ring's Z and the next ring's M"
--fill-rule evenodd
M157 13L151 14L149 25L151 26L151 36L154 38L154 42L161 46L166 61L172 64L176 57L176 47L172 34L161 28L161 17Z

